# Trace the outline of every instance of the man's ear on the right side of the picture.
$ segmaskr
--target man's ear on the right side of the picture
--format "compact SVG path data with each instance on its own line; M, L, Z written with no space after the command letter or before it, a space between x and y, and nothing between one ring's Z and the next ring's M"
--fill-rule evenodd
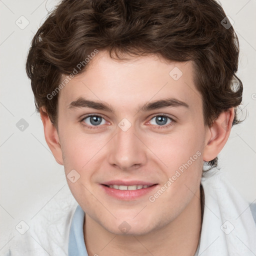
M232 127L234 108L231 107L219 114L213 124L208 127L203 150L203 160L213 160L224 147Z

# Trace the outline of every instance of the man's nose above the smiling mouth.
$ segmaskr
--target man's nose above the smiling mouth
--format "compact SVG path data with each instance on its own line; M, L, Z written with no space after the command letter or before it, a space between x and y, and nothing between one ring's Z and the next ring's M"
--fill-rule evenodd
M126 131L117 126L116 134L109 142L109 164L122 170L131 170L146 163L147 147L134 125Z

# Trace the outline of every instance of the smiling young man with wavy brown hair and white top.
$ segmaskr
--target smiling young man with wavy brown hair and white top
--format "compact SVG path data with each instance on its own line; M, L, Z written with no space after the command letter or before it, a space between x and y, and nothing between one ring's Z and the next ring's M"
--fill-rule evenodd
M26 71L78 206L26 255L255 255L249 203L216 168L238 51L214 0L60 2Z

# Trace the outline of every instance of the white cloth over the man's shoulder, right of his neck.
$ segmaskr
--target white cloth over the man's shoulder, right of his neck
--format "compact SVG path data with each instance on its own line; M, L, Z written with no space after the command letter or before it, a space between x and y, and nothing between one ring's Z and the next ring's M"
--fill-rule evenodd
M204 212L198 255L256 255L256 225L246 202L218 169L203 173Z

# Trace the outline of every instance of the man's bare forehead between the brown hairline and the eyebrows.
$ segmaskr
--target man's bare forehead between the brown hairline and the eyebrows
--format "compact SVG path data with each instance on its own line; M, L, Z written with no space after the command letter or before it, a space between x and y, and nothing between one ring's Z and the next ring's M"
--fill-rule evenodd
M60 91L59 105L84 97L104 101L113 108L131 110L147 101L173 97L201 108L201 95L194 84L191 61L175 62L156 54L117 60L99 51L83 73L75 75ZM128 58L128 59L127 59Z

